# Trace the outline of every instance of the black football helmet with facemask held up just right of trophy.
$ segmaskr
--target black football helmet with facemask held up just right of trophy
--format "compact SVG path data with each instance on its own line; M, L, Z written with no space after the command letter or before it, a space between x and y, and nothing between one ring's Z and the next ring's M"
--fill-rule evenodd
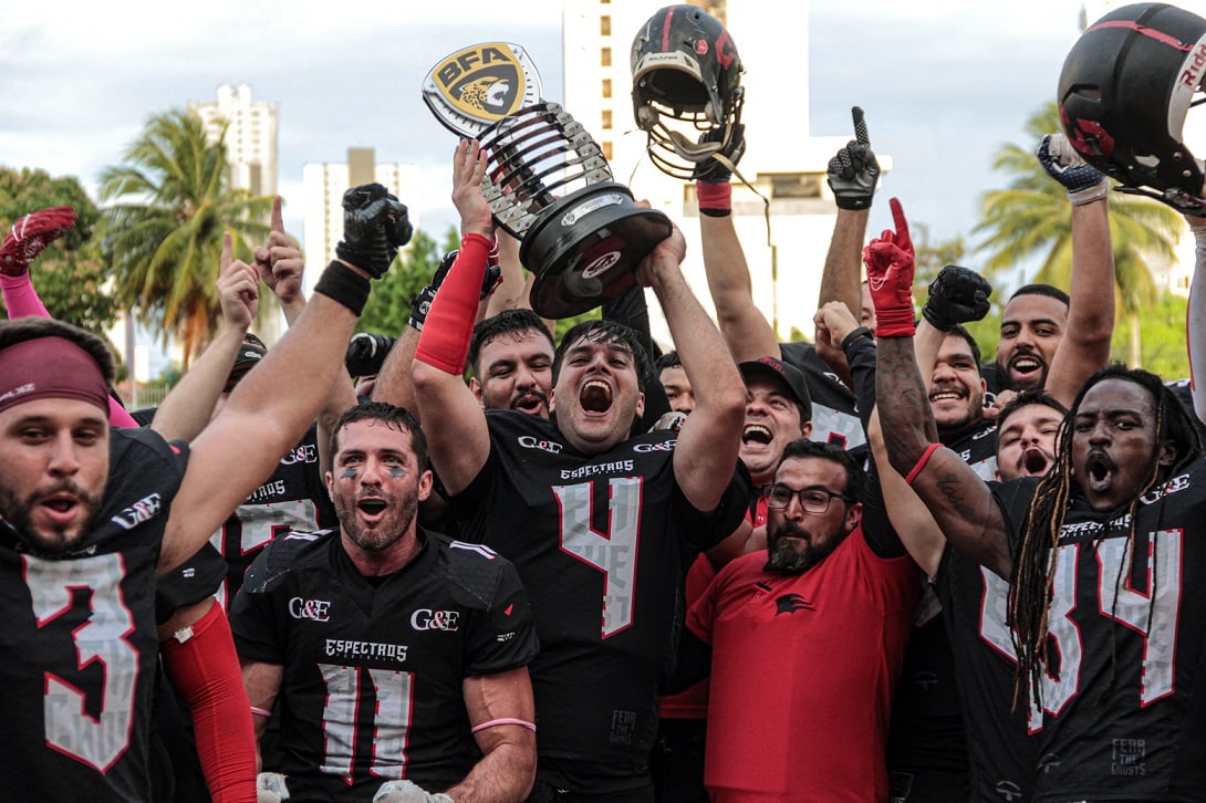
M632 106L658 169L690 178L714 154L732 163L740 158L740 76L728 30L702 8L667 6L642 25L632 41ZM696 134L675 130L667 119Z

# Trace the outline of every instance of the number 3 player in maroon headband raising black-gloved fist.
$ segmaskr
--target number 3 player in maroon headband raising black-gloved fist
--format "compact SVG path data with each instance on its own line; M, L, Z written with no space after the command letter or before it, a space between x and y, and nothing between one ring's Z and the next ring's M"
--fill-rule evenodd
M297 326L192 444L111 429L107 348L69 324L0 324L0 737L11 799L147 799L156 572L195 553L314 418L405 207L349 193L345 242ZM226 256L229 259L229 253ZM292 392L275 392L288 386Z

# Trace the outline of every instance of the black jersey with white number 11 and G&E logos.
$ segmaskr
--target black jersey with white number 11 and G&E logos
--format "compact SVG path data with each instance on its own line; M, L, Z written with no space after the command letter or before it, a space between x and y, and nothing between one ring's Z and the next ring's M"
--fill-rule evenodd
M240 657L285 667L277 697L289 792L371 801L386 780L438 791L473 768L462 681L526 666L532 610L509 561L420 529L416 557L374 585L336 532L260 551L230 606Z

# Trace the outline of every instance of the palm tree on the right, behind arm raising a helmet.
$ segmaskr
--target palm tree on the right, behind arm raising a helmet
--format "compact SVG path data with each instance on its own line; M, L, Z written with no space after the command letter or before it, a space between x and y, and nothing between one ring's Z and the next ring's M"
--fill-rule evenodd
M988 252L984 272L994 275L1037 257L1041 266L1031 281L1067 288L1072 270L1072 215L1067 193L1053 181L1035 151L1047 134L1059 131L1059 110L1048 104L1026 122L1030 148L1007 145L994 169L1014 176L1007 189L984 193L984 219L973 233L987 234L978 251ZM1157 301L1151 265L1171 262L1184 218L1154 200L1111 193L1110 239L1114 251L1118 305L1130 321L1131 365L1142 363L1140 311Z

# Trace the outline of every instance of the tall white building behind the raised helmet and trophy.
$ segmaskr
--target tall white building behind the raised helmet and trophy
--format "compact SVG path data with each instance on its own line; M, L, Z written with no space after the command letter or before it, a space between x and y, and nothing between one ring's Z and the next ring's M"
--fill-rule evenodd
M662 174L645 153L645 134L632 111L632 40L645 20L667 5L661 0L566 0L563 23L564 107L599 142L616 181L649 199L683 228L687 239L684 272L696 295L713 311L699 257L691 182ZM853 137L814 137L808 119L808 2L777 4L774 24L767 5L753 0L712 0L698 5L725 23L745 72L748 148L740 172L769 200L769 235L761 198L733 184L733 221L749 262L754 300L781 339L798 329L809 339L821 268L837 217L826 165ZM798 47L772 46L783 30ZM540 65L537 65L538 68ZM781 102L791 98L791 104ZM783 147L790 141L791 147ZM888 170L891 159L877 154ZM669 341L650 305L654 338Z

